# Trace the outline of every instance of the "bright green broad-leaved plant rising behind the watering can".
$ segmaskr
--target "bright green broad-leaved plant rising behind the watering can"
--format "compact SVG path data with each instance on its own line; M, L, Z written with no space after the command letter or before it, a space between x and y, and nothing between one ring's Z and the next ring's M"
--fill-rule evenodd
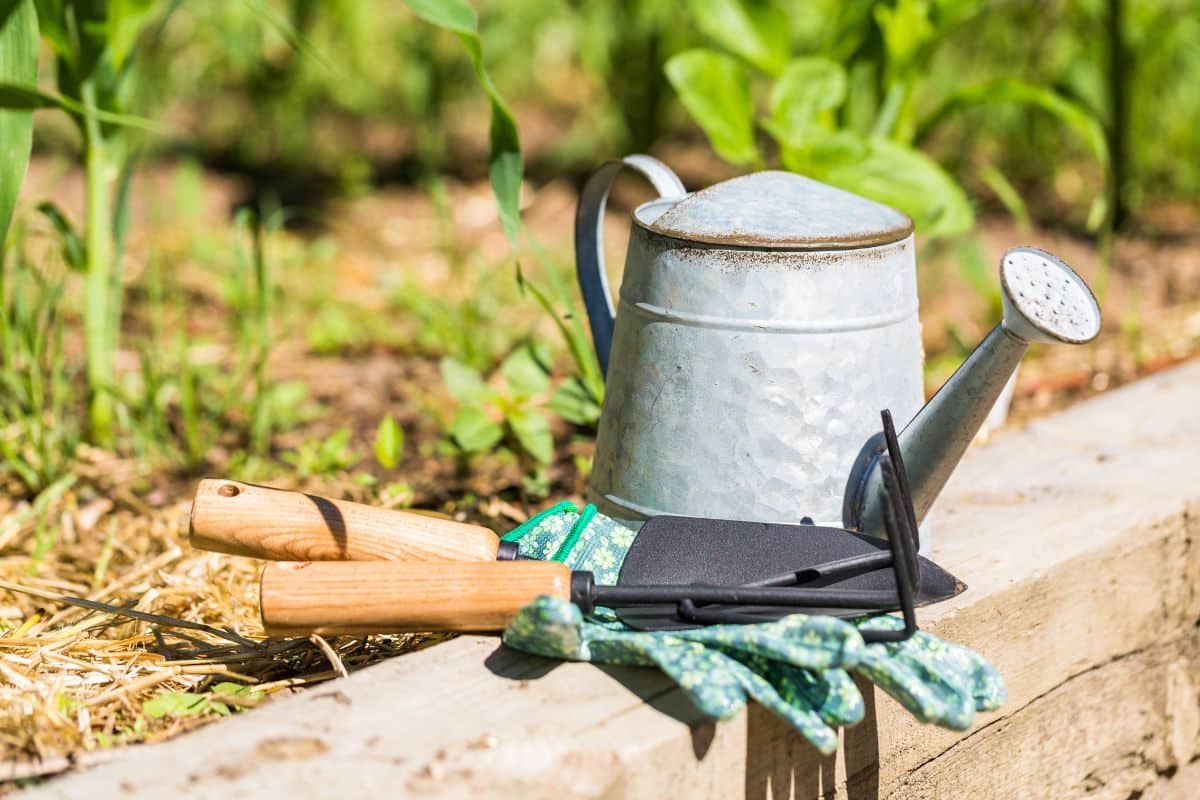
M695 24L718 46L685 50L666 64L679 100L726 161L761 168L762 131L790 170L894 205L930 236L973 224L959 184L920 150L965 108L1021 103L1049 113L1088 144L1102 167L1099 122L1051 89L1013 78L924 96L930 62L982 0L816 2L692 0ZM793 29L797 29L793 34ZM793 44L799 41L802 52ZM922 113L923 103L932 110ZM985 178L1012 194L992 170ZM1091 218L1104 217L1104 198Z

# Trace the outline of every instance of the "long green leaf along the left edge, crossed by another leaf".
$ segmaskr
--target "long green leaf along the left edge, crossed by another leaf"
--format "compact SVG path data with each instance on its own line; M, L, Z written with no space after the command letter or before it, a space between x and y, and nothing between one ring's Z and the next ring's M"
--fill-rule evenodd
M37 13L31 0L7 2L0 10L0 84L8 83L37 83ZM32 142L29 109L0 110L0 247L8 235Z

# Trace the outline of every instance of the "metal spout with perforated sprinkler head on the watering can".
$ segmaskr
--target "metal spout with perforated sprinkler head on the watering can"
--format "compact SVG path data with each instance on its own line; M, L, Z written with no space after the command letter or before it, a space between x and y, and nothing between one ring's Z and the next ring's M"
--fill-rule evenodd
M1033 247L1004 253L1004 317L900 433L917 522L929 512L1033 342L1084 344L1100 331L1091 289L1062 260ZM886 537L878 470L882 435L859 452L846 486L842 523Z

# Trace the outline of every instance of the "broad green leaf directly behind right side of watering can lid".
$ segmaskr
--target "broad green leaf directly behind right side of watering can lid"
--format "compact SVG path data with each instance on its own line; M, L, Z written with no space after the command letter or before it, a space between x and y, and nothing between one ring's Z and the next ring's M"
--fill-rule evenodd
M932 158L889 139L842 131L803 154L784 151L788 169L900 209L925 236L954 236L974 224L962 188Z

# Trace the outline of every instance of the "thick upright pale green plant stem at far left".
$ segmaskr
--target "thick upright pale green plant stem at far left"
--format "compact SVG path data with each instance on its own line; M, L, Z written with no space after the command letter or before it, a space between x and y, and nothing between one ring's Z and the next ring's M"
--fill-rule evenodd
M90 79L79 86L80 100L89 110L96 110L96 88ZM92 115L84 118L84 192L86 248L86 299L84 305L84 339L88 357L88 421L91 440L97 445L110 444L113 438L113 351L115 333L109 318L109 272L112 270L112 210L108 188L112 176L108 154L100 122Z

